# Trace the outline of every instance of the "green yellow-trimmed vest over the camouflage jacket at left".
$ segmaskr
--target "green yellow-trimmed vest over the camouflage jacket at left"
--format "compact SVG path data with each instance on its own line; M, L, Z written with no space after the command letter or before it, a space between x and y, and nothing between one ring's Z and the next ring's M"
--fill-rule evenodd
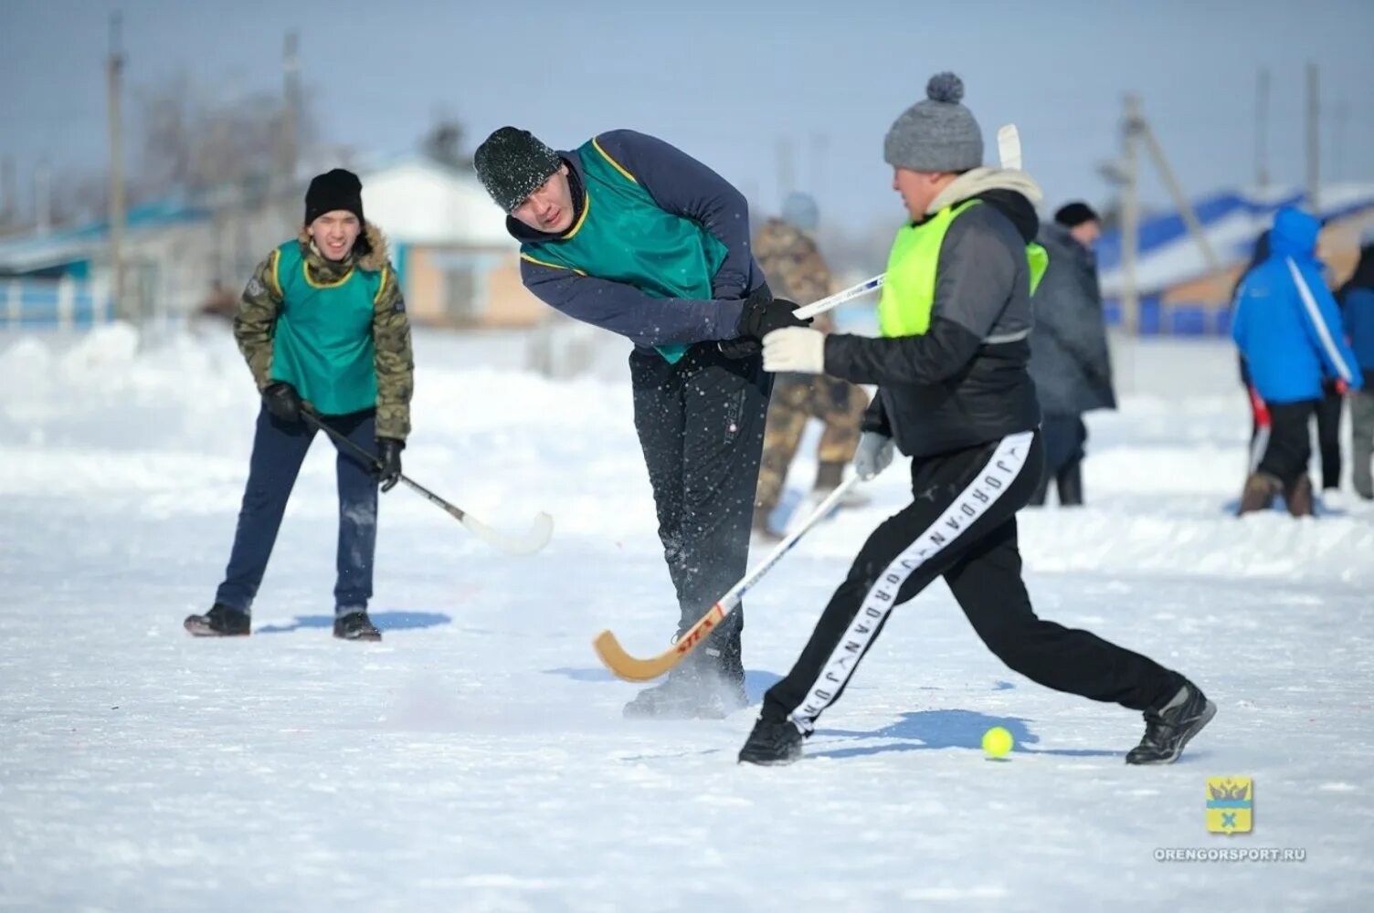
M386 283L381 272L349 269L334 284L316 281L300 242L276 249L273 277L282 292L272 343L272 380L283 380L322 415L376 406L372 312Z

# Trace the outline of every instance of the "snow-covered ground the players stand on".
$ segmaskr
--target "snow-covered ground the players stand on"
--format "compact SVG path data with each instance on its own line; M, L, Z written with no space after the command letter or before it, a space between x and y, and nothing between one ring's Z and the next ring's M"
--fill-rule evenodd
M1245 402L1220 343L1118 351L1091 507L1021 516L1032 597L1194 677L1220 713L1172 767L1136 714L1044 691L943 583L899 610L785 769L753 721L627 722L589 641L665 645L676 608L618 369L526 373L510 339L420 335L407 471L478 516L556 518L525 559L382 502L382 644L330 637L317 442L254 636L192 640L228 556L257 408L227 338L135 351L0 338L0 908L109 910L1370 909L1374 511L1231 516ZM801 485L813 464L798 463ZM819 527L747 607L757 702L867 531ZM1010 759L978 748L1007 726ZM1210 835L1205 780L1250 776ZM1157 850L1300 848L1301 862Z

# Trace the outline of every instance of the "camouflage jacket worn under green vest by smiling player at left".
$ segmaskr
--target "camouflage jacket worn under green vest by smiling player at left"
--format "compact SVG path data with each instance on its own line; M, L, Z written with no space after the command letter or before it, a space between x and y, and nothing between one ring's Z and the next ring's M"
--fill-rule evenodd
M372 250L357 259L357 266L381 270L387 262L386 238L371 222L367 222L364 231ZM300 243L311 276L322 283L338 281L353 266L353 254L339 262L322 257L311 247L309 235L304 229ZM257 265L234 314L234 339L249 362L258 390L265 390L272 383L272 338L282 308L282 288L275 268L276 257L272 255ZM404 441L411 432L415 358L411 354L411 324L394 268L386 270L386 283L376 297L372 342L376 349L376 437Z

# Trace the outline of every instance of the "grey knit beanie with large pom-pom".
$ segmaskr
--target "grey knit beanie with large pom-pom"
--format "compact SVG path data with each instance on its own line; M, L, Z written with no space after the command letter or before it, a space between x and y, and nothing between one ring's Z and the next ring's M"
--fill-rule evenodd
M937 73L926 97L901 113L882 141L882 157L893 167L912 172L967 172L982 165L982 129L960 104L963 80Z

